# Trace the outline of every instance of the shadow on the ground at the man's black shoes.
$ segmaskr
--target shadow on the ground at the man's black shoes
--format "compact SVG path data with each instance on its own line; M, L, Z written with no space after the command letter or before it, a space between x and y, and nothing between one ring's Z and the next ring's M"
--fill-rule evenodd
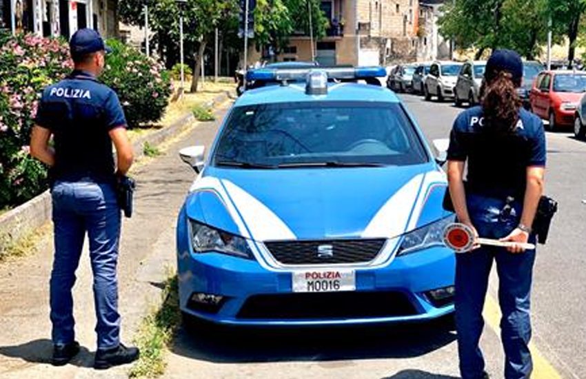
M22 345L0 346L0 356L8 358L20 358L31 363L51 364L53 342L51 340L34 340ZM70 362L70 365L77 367L93 367L94 354L85 347L80 347L79 354Z

